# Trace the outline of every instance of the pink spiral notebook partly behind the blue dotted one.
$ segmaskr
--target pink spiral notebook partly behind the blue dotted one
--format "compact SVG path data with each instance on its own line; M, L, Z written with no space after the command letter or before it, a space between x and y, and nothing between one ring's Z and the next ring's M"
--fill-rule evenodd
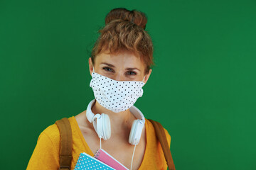
M129 170L127 167L122 165L120 162L117 161L117 159L114 159L110 154L108 154L103 149L98 149L95 153L95 158L99 159L101 162L104 162L105 164L111 166L114 169L118 170Z

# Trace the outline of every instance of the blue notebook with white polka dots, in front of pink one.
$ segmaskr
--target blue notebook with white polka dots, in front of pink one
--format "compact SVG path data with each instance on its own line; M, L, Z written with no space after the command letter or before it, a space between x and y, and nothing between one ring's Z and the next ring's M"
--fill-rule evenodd
M107 164L86 153L81 153L78 157L78 162L75 164L75 169L79 170L115 170Z

